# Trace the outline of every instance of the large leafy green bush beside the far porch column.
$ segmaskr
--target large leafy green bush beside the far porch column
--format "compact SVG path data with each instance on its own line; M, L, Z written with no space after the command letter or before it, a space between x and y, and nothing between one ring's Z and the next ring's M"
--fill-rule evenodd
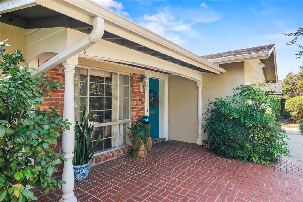
M211 150L231 158L269 165L289 156L285 132L280 131L268 111L270 97L263 84L241 85L233 95L208 101L204 131Z

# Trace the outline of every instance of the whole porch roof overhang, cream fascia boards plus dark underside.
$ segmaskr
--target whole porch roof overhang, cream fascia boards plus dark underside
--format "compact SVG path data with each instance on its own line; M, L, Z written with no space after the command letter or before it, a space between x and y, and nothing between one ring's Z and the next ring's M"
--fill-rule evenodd
M1 1L0 4L2 22L7 24L28 29L67 27L88 34L92 29L93 17L99 16L104 19L105 32L102 39L106 41L171 62L173 66L178 65L185 70L198 71L200 74L226 72L92 0Z

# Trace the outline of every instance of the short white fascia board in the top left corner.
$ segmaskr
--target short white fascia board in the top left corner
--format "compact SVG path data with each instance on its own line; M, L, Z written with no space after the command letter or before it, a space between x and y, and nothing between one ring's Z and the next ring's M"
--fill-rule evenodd
M7 13L34 5L38 5L35 0L2 0L0 1L0 13Z

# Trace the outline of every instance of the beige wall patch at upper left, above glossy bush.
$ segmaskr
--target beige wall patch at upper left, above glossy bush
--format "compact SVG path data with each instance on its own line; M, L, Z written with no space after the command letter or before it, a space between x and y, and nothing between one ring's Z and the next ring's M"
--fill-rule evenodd
M6 41L7 44L12 45L12 47L5 47L6 52L13 50L21 50L23 56L26 56L26 46L25 46L25 29L8 25L5 23L0 23L0 41ZM25 64L20 64L25 65Z

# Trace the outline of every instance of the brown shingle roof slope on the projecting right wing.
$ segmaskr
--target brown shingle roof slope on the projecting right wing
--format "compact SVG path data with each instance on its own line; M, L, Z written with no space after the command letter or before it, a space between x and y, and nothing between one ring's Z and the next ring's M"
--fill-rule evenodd
M229 56L258 53L258 52L270 51L274 45L275 44L257 46L257 47L253 47L253 48L244 48L244 49L235 50L235 51L227 51L227 52L210 54L210 55L202 55L201 57L208 60L208 59L214 59L214 58L223 58L223 57L229 57Z

